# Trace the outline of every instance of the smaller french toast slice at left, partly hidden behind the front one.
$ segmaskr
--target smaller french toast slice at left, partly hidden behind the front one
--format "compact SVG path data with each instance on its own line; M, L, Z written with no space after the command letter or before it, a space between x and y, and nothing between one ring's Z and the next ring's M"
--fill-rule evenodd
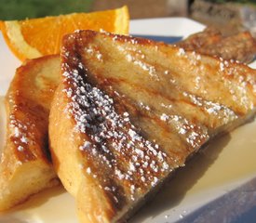
M0 163L0 210L59 183L47 150L50 102L59 83L60 56L26 61L6 96L7 134Z

